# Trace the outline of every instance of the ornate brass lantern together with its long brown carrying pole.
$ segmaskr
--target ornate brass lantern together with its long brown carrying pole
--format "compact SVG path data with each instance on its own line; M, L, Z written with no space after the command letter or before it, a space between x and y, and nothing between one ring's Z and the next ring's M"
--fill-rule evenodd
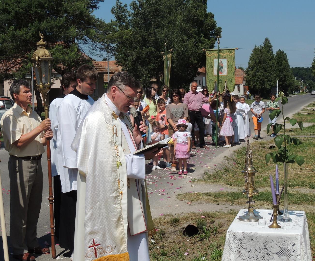
M48 114L48 92L51 87L51 70L52 70L52 60L51 53L45 48L46 43L43 41L43 34L39 32L41 40L37 42L37 50L33 53L31 61L34 63L34 70L36 75L36 87L43 96L44 100L44 112L45 119L49 116ZM45 66L43 69L48 71L42 71L42 62L48 62L48 67ZM37 70L36 70L37 69ZM47 76L48 74L48 76ZM43 81L44 78L44 81ZM48 80L47 80L48 79ZM47 139L46 145L47 152L47 164L48 164L48 184L49 184L49 212L50 212L50 236L51 236L51 255L52 258L56 258L56 246L55 246L55 225L54 225L54 195L53 195L53 183L51 177L51 151L50 151L50 140Z

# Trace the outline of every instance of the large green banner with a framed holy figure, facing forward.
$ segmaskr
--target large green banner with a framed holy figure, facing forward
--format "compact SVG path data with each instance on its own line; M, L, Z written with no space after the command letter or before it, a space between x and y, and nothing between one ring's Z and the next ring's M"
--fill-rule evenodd
M218 76L218 50L206 51L206 84L210 92L213 92ZM219 57L219 91L223 92L225 83L229 92L235 88L235 49L220 50Z

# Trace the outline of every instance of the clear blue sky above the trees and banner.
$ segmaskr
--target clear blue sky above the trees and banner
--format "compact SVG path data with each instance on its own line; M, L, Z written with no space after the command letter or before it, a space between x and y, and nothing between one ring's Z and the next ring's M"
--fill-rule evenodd
M111 14L115 0L105 0L94 12L106 22L114 19ZM131 0L121 0L131 3ZM219 4L221 6L219 6ZM222 27L220 46L252 49L269 38L274 53L278 49L288 55L291 67L309 67L315 48L315 1L266 0L266 1L210 1L208 12L215 15L217 26ZM217 45L215 44L215 47ZM207 48L207 46L205 46ZM247 67L251 50L238 49L235 64ZM310 51L289 51L289 50Z

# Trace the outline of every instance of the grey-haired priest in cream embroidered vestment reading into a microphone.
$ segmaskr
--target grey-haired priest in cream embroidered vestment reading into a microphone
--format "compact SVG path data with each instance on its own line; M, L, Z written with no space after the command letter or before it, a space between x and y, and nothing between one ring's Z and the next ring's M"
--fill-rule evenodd
M145 155L138 127L127 114L140 83L115 73L87 112L72 143L77 152L77 213L74 260L149 261ZM141 123L142 124L142 123ZM144 124L140 130L145 130Z

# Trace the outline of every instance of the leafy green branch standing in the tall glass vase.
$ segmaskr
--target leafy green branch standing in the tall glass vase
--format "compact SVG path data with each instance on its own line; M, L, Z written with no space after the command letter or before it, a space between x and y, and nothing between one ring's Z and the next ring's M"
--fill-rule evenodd
M281 109L282 110L273 110L272 113L269 114L269 117L271 120L273 120L276 116L279 116L282 114L283 117L283 124L275 123L273 126L273 132L277 134L282 129L284 131L284 134L280 134L274 139L275 145L278 148L278 151L270 152L265 155L266 163L272 159L274 163L277 162L288 162L288 163L297 163L299 166L301 166L304 163L304 158L302 156L290 154L287 145L288 144L294 144L296 146L302 144L301 140L298 138L291 137L286 134L285 124L286 121L290 122L292 126L297 124L301 130L303 130L303 122L297 121L294 118L284 117L283 113L283 105L288 104L288 98L284 95L283 92L279 92L279 97L276 99L276 101L281 101ZM267 134L269 133L269 129L271 127L272 123L269 123L267 125Z

